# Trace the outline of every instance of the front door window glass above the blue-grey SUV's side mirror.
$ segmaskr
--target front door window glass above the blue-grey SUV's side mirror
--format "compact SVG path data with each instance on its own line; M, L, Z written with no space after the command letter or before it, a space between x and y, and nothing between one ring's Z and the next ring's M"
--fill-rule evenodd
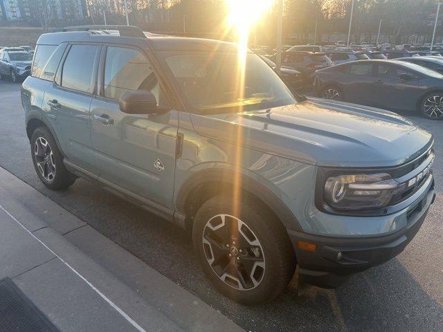
M150 91L158 104L165 100L159 80L145 55L132 48L109 46L105 62L105 97L118 100L131 90Z

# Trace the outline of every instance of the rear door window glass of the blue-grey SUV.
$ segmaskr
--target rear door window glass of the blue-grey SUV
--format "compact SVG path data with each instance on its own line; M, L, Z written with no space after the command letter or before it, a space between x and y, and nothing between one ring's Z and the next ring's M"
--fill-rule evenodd
M92 93L99 47L73 45L62 69L62 86L68 89Z

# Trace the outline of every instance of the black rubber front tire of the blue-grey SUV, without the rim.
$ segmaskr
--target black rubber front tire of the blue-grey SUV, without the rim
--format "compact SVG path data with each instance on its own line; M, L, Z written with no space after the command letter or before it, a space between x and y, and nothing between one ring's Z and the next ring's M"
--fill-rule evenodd
M286 230L269 210L249 196L241 199L242 207L235 215L232 198L219 195L204 203L195 216L192 240L196 255L204 270L220 293L236 302L259 304L269 302L287 287L296 268L296 258ZM264 253L265 272L255 288L239 291L219 279L208 264L203 250L202 236L209 219L217 214L230 214L242 220L255 233Z

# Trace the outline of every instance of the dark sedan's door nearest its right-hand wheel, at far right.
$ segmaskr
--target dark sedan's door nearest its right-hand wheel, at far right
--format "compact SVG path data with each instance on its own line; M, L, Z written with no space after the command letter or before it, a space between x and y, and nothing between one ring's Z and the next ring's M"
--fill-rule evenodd
M421 95L418 87L419 77L417 73L395 64L377 64L376 95L378 107L392 110L413 110ZM408 74L410 79L404 80L402 74Z

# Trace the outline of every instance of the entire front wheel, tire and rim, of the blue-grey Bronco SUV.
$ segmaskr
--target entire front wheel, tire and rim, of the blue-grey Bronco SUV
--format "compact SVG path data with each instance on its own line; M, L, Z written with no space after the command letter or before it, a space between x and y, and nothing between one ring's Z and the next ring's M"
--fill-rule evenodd
M291 281L296 256L286 229L263 203L248 195L237 201L220 194L201 205L194 249L220 293L244 304L269 302Z

